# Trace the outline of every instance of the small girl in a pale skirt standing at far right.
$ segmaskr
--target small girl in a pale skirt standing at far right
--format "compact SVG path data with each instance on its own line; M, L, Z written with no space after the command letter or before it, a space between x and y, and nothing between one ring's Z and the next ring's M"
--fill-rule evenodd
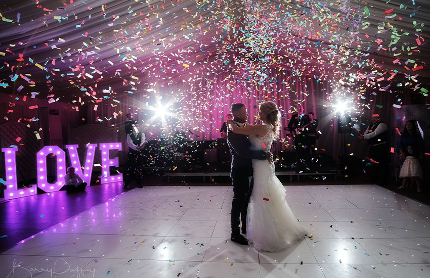
M412 182L416 183L417 192L422 192L421 189L421 179L422 179L422 169L419 164L418 154L412 146L407 147L407 152L404 153L405 162L400 170L399 177L403 178L402 186L398 189L408 189L412 187Z

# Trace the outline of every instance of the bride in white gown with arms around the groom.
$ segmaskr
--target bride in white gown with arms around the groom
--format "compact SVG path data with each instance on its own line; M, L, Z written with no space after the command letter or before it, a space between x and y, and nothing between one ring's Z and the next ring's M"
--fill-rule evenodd
M261 125L237 126L228 121L231 131L250 135L253 150L270 151L280 134L280 112L274 102L259 106ZM303 239L307 229L295 218L285 200L286 190L275 175L275 164L267 160L252 160L254 187L246 218L247 238L258 251L279 252Z

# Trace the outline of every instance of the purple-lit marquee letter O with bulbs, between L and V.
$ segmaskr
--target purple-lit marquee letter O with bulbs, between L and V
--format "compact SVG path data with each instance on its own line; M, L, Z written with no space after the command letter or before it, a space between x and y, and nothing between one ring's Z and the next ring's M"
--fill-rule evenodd
M48 183L48 169L46 166L46 157L49 154L55 154L57 158L57 181ZM66 175L66 154L58 146L45 146L37 152L37 187L45 192L59 191L65 183Z

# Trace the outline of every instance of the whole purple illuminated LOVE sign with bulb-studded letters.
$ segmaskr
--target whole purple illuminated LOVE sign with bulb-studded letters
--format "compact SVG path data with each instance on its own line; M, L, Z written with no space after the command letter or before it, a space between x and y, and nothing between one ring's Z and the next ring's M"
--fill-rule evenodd
M83 159L83 171L77 154L78 145L66 145L68 157L71 166L75 168L75 173L78 174L84 182L90 184L91 174L93 172L94 154L97 144L88 144L87 152ZM99 149L102 154L102 177L101 183L113 181L122 181L122 173L117 175L110 174L110 167L118 167L118 158L110 159L109 150L121 151L121 143L103 143L99 144ZM66 154L58 146L45 146L37 152L36 170L37 184L32 184L29 188L18 189L18 179L16 175L16 151L17 148L3 148L5 153L5 168L6 168L6 190L5 199L14 199L24 196L37 194L37 187L45 192L59 191L65 184L64 176L66 175ZM57 179L53 183L49 183L47 179L47 156L54 154L57 160Z

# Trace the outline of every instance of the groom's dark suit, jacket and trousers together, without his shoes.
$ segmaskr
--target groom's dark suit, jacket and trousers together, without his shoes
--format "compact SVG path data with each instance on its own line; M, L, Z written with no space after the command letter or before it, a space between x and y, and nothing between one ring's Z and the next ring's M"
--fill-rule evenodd
M252 159L266 159L265 151L253 151L247 135L236 134L227 129L227 144L232 155L230 177L233 184L233 202L231 206L231 232L240 234L246 230L246 214L252 193Z

